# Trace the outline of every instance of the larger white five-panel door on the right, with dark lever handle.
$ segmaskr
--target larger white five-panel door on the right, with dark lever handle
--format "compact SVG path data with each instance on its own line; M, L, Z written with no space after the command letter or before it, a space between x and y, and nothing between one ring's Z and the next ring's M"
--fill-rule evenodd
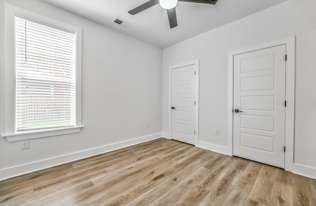
M285 54L280 45L234 56L233 154L279 168L284 168Z

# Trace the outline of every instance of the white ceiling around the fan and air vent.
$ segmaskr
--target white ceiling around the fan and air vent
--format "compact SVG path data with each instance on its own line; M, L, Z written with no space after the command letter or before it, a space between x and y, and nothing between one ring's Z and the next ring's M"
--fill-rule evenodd
M155 5L136 15L127 11L147 0L44 0L87 19L165 48L285 0L218 0L216 5L178 2L178 27L170 29L166 11ZM131 23L124 28L115 17Z

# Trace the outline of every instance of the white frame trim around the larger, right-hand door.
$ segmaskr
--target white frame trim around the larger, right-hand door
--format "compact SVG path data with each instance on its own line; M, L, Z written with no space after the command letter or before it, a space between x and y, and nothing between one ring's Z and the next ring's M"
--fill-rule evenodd
M295 36L271 41L247 48L237 49L228 54L228 109L227 109L227 136L228 155L233 156L233 109L234 109L234 56L256 50L266 49L279 45L286 46L287 61L285 62L285 146L284 170L293 172L294 166L294 109L295 109Z

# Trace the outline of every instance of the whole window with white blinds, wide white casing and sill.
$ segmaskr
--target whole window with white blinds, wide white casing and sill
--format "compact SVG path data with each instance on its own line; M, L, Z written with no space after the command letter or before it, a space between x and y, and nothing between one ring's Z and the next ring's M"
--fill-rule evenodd
M8 124L2 136L16 141L79 132L81 30L9 4L5 9Z

